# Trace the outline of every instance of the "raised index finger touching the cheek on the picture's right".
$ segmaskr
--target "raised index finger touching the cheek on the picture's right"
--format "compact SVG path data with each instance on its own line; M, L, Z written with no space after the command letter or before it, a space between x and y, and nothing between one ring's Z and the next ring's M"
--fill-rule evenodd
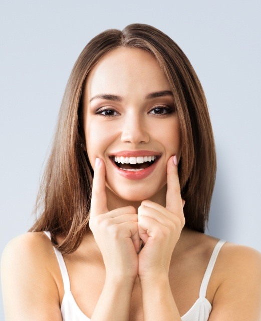
M182 199L180 194L180 185L178 178L177 157L171 156L167 163L167 195L166 208L178 215L183 216ZM180 217L181 218L181 217Z

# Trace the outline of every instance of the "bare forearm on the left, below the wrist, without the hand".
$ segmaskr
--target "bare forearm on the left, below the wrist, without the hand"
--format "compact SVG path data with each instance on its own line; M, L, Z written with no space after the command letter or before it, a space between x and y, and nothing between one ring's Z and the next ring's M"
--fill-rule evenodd
M134 281L106 277L92 321L128 321Z

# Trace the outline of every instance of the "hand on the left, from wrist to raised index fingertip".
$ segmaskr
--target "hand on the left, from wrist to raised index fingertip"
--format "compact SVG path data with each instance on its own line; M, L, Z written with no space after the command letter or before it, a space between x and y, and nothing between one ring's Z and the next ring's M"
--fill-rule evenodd
M122 276L135 280L140 247L138 215L133 206L108 210L105 176L105 164L97 158L89 226L102 253L106 277Z

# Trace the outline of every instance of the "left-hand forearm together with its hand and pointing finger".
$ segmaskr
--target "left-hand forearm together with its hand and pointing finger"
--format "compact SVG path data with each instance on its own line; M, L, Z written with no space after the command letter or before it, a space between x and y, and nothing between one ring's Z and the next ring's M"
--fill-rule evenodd
M89 226L103 256L106 278L92 321L128 321L133 286L138 272L140 238L135 208L109 211L105 165L96 162Z

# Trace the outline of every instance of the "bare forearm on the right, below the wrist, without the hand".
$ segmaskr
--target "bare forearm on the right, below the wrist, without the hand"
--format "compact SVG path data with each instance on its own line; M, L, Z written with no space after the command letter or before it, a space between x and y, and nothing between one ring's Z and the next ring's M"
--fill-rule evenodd
M140 279L144 321L180 321L168 276Z

